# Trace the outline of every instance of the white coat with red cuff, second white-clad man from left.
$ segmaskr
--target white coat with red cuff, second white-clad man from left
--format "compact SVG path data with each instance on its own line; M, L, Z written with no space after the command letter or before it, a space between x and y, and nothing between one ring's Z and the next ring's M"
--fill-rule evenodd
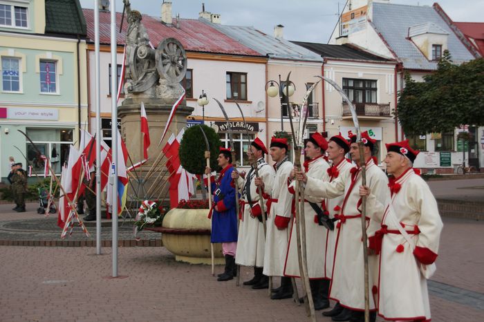
M292 162L283 162L277 169L272 185L270 214L268 216L264 270L266 276L283 276L284 261L288 249L288 224L291 214L292 195L288 191L288 177L294 169ZM264 182L264 186L266 182ZM266 190L266 187L264 187ZM285 227L278 229L277 227Z

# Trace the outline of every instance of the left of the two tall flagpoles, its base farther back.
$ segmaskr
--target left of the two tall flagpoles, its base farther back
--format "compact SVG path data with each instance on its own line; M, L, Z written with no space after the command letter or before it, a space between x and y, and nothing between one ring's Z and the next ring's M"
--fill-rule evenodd
M96 254L101 254L101 93L99 69L99 0L94 0L94 74L96 93Z

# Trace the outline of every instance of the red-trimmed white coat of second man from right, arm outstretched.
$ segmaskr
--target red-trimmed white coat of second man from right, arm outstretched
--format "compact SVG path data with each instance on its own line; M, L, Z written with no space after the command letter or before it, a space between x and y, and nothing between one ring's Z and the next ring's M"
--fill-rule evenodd
M344 193L344 202L337 221L335 255L333 256L333 279L330 285L330 299L352 310L364 310L364 260L362 226L360 213L359 187L362 185L361 169L355 168L355 174L348 171L333 182L323 182L308 178L306 193L308 196L334 198ZM353 178L352 178L353 177ZM366 217L373 218L373 212L381 214L385 202L389 199L388 178L375 165L372 159L366 162L366 185L375 193L372 207L366 207ZM344 216L342 216L344 215ZM350 216L349 218L347 216ZM354 216L355 218L352 218ZM372 236L378 222L367 219L366 233ZM371 290L378 282L378 256L369 256L370 310L375 310L375 296ZM374 294L376 295L376 294Z

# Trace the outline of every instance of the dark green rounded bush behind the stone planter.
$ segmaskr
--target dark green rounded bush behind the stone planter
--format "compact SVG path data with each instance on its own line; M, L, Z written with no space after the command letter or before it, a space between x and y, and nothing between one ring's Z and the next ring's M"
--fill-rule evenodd
M218 134L210 126L205 124L194 125L189 127L180 142L180 163L182 167L189 173L202 174L205 173L207 161L205 160L205 150L207 145L203 138L203 133L200 127L203 126L203 131L207 135L208 144L210 146L210 168L216 169L219 148L222 145Z

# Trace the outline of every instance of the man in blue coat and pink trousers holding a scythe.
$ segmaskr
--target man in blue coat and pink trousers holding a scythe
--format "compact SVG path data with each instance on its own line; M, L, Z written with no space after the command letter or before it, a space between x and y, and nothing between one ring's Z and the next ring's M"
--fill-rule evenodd
M225 256L225 271L218 275L217 281L230 281L236 274L235 250L237 248L237 214L235 189L232 185L232 154L230 149L220 148L217 158L222 168L215 182L211 181L213 204L209 218L212 218L212 243L222 243ZM207 167L205 173L212 172ZM212 177L211 177L212 178Z

